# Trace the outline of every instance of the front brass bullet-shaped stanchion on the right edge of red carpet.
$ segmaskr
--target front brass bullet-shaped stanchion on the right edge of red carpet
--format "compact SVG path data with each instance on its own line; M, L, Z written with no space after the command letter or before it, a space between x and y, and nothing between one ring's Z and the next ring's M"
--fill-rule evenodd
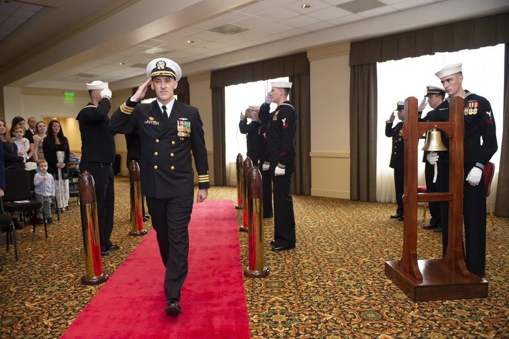
M269 269L264 266L262 186L260 170L257 166L251 167L247 178L249 266L244 270L244 276L249 278L263 278L269 275Z

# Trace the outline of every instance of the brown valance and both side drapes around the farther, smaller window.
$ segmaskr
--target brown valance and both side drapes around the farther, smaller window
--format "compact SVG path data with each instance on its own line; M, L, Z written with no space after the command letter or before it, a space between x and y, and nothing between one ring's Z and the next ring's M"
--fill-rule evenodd
M298 114L295 173L292 176L293 194L311 194L311 133L309 100L309 62L307 53L282 56L281 58L240 65L213 71L210 78L212 89L212 120L214 121L214 185L227 185L224 87L239 83L274 79L288 76L294 82L290 100ZM221 126L219 126L221 124ZM307 124L304 126L304 124ZM216 130L217 128L217 130Z

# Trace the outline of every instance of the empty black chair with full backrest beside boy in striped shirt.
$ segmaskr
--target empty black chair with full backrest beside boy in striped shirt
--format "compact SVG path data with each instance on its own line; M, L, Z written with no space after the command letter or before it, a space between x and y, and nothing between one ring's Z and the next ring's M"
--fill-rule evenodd
M44 234L48 237L48 230L46 227L46 213L42 208L42 203L32 199L30 174L18 167L7 167L5 169L5 190L4 190L4 209L9 212L29 212L28 220L31 220L34 225L33 232L35 233L35 225L37 218L31 218L31 213L37 215L37 210L42 211L44 221Z

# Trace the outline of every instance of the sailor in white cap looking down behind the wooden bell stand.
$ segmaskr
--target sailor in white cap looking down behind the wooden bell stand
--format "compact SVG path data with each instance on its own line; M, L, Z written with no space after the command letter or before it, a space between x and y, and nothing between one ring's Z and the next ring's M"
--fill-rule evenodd
M463 221L465 224L465 264L467 269L479 277L485 276L486 267L486 186L483 170L498 149L495 119L491 104L486 98L463 90L462 64L449 65L435 75L440 79L449 95L435 108L432 121L449 120L449 101L451 97L464 100L465 142L463 158ZM480 140L483 140L481 143ZM443 142L448 148L449 139ZM440 191L448 192L449 153L441 155L431 152L431 164L438 161ZM448 235L448 202L442 202L442 252L445 256Z

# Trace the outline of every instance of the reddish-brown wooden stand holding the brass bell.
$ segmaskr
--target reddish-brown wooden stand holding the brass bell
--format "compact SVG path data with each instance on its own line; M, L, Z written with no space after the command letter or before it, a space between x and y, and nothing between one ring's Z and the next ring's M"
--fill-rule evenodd
M405 100L405 188L403 253L386 261L385 275L414 301L486 298L488 282L470 273L463 255L463 98L451 98L448 122L418 122L417 99ZM417 193L417 145L432 128L449 140L449 192ZM417 203L449 202L447 251L443 259L417 260Z

